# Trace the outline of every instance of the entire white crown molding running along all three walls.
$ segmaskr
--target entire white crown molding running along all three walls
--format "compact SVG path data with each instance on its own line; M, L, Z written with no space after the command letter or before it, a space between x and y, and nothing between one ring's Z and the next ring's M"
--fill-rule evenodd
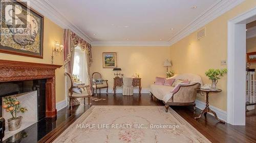
M37 10L42 15L51 19L53 22L61 26L62 28L69 28L71 31L76 33L82 39L91 43L92 46L171 46L191 33L197 31L199 28L203 27L210 21L221 16L230 9L238 6L245 0L219 0L210 8L205 10L200 16L198 16L194 21L190 22L181 31L179 31L175 36L166 41L151 42L151 41L92 41L92 39L82 32L75 24L70 22L65 16L63 16L53 5L51 5L47 0L30 0L30 5L32 8Z

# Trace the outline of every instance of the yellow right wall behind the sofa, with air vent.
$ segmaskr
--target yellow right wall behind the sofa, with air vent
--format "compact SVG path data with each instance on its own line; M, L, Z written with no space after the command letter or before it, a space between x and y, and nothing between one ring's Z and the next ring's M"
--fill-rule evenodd
M197 41L196 32L170 47L172 69L176 73L195 73L202 77L203 83L211 81L205 76L205 71L214 68L222 69L221 60L227 60L227 21L256 6L255 0L246 0L239 6L226 12L206 27L206 37ZM190 43L190 45L189 45ZM227 108L227 76L219 80L217 86L223 91L209 96L209 104L226 110ZM199 100L203 97L198 96Z

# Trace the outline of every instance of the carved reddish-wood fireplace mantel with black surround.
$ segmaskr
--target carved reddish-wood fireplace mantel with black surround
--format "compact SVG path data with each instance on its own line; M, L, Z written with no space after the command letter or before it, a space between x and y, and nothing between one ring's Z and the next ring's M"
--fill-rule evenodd
M3 116L2 98L11 95L22 96L21 94L36 97L33 102L37 101L37 104L32 105L37 108L37 114L32 115L35 120L56 117L55 69L60 67L60 65L0 60L0 117Z

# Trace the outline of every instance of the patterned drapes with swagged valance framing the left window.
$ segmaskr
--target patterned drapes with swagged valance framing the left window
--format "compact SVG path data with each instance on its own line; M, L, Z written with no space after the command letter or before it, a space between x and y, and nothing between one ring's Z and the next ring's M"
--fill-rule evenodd
M73 72L73 66L74 66L74 51L75 51L75 47L79 46L81 48L81 50L86 51L86 65L87 66L87 77L88 77L88 85L90 85L91 87L91 79L90 79L90 65L92 63L92 46L90 43L86 42L85 40L83 40L82 38L80 38L79 36L77 36L75 33L73 33L72 31L66 29L64 30L64 35L63 35L63 41L64 41L64 66L67 69L67 72L71 73ZM89 65L88 65L89 64ZM91 88L90 88L91 89ZM90 91L90 94L92 92ZM68 95L69 96L69 95ZM68 102L69 102L69 97L67 98ZM73 105L79 105L80 103L78 102L78 100L75 99L75 101L73 102Z

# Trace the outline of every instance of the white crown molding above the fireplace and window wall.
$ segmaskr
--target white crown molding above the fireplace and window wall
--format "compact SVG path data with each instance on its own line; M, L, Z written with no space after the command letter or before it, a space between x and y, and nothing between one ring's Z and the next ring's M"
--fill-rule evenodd
M28 1L26 1L28 2ZM54 23L59 25L62 28L70 29L72 32L77 34L83 40L91 43L92 39L84 34L75 24L70 22L65 16L63 16L57 8L55 8L51 3L47 0L30 0L30 7L41 13L42 15L46 16Z

